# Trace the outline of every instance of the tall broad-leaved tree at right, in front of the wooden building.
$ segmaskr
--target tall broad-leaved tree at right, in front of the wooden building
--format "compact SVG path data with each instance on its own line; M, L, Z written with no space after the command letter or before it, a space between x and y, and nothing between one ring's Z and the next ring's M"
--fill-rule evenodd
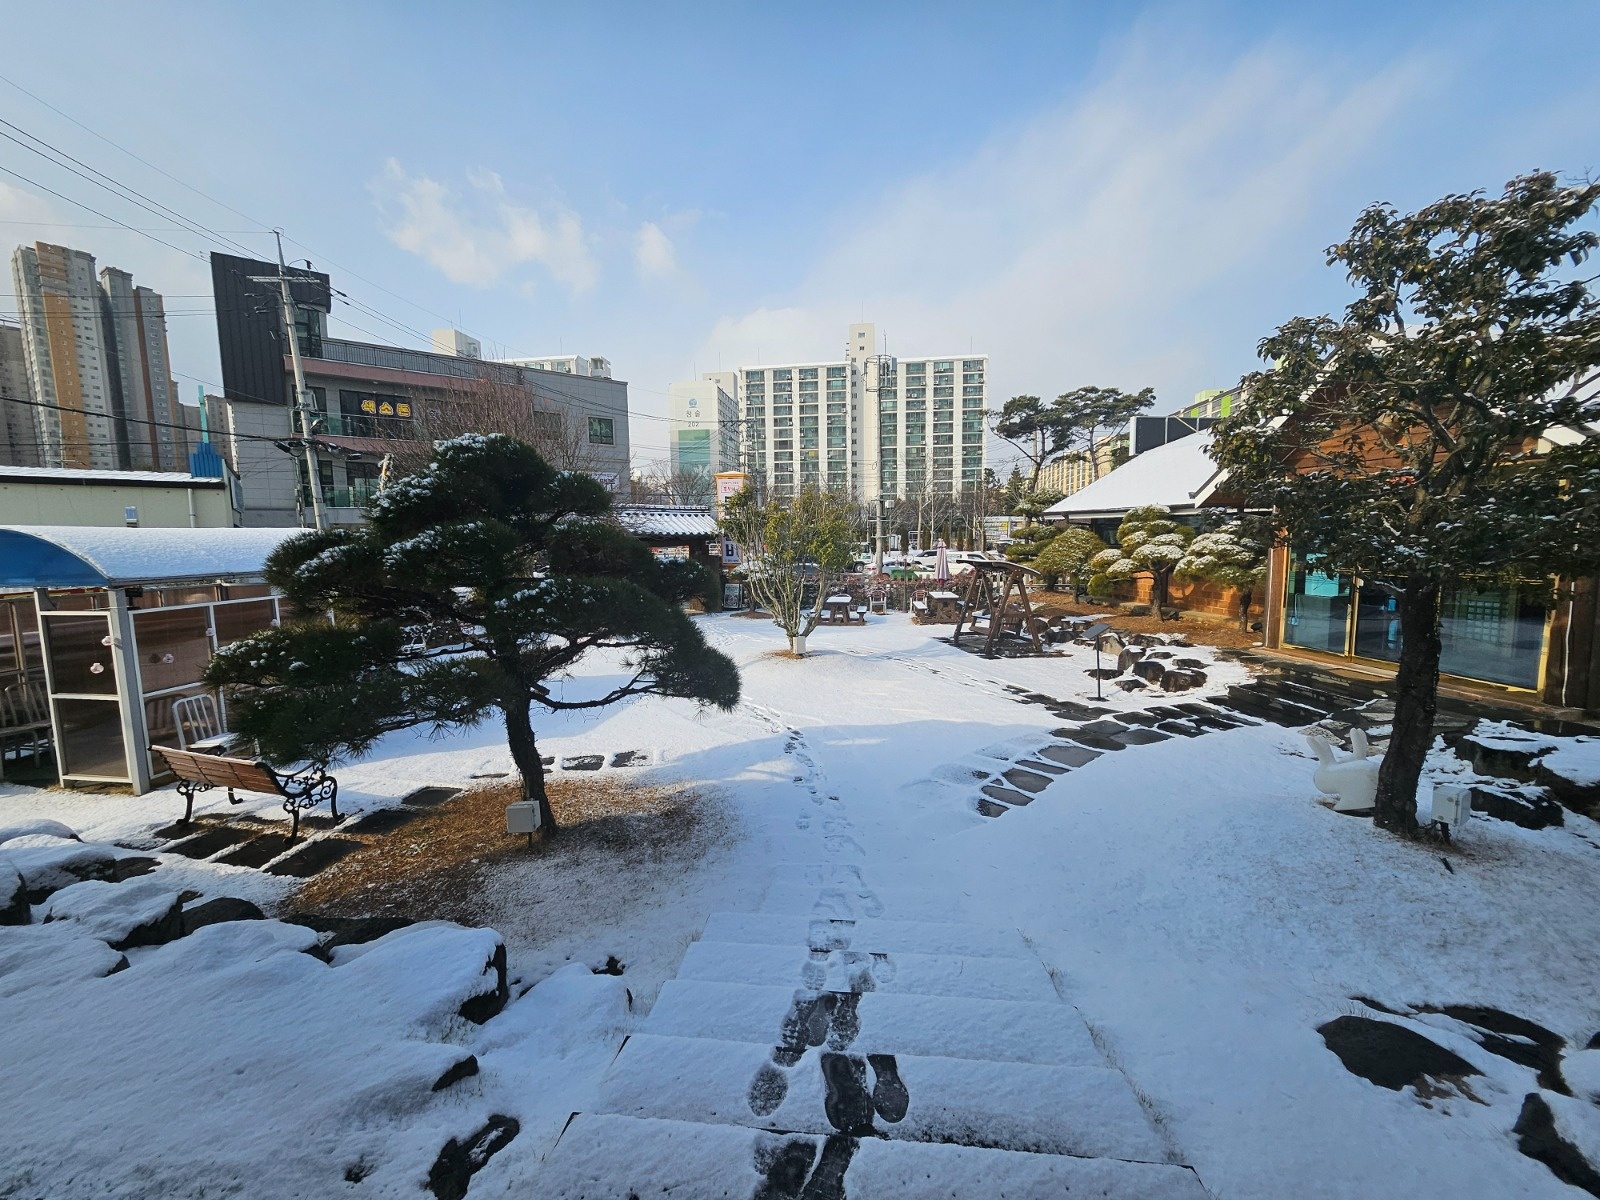
M1394 581L1395 720L1374 821L1418 835L1440 603L1462 578L1600 568L1600 184L1550 173L1418 213L1368 208L1330 248L1357 296L1261 342L1213 454L1318 570Z

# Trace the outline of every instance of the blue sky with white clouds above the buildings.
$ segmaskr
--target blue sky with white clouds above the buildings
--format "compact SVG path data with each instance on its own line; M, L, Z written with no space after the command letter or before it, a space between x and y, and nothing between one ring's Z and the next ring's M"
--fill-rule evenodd
M1600 171L1594 0L64 2L0 26L0 238L163 293L187 400L221 390L205 253L270 258L278 227L347 293L336 336L610 358L635 466L666 458L672 381L842 357L856 320L901 357L989 354L994 406L1094 384L1171 411L1349 299L1325 248L1366 205Z

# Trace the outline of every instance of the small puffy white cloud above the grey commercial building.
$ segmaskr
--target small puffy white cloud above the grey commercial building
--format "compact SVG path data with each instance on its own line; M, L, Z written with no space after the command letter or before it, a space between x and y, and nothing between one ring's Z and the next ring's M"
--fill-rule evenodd
M517 205L493 171L474 171L467 182L470 192L462 197L390 158L370 187L389 240L456 283L486 288L514 267L538 264L573 291L595 285L600 270L576 213Z

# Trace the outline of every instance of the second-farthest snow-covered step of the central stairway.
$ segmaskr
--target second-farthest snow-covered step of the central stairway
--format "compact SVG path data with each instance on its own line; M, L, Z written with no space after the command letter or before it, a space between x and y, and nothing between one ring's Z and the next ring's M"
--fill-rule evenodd
M912 992L1037 1003L1058 1000L1038 960L901 950L808 950L805 946L698 941L683 955L678 979L806 987L814 992Z

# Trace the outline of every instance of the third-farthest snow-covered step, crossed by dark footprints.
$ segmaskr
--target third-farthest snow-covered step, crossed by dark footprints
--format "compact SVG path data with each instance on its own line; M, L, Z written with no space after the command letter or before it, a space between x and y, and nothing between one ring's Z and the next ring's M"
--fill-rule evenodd
M838 997L819 1002L795 987L669 979L640 1032L771 1048L827 1037L837 1011ZM850 1050L859 1054L1104 1066L1077 1010L1059 1002L866 992L854 998L854 1021L861 1032Z

